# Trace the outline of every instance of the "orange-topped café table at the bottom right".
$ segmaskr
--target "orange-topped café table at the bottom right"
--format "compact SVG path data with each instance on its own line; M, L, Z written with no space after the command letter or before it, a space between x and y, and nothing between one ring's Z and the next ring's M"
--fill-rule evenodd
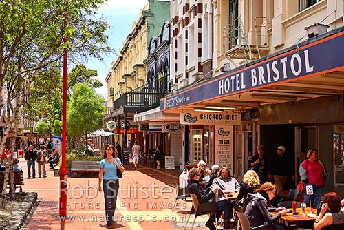
M289 209L292 211L292 209ZM286 216L281 216L279 222L281 224L289 226L290 224L295 224L296 227L299 227L299 224L303 222L314 222L316 220L316 209L307 207L305 210L305 216L303 216L302 208L297 208L297 215L294 215L292 212L286 214ZM269 212L270 216L275 216L277 212Z

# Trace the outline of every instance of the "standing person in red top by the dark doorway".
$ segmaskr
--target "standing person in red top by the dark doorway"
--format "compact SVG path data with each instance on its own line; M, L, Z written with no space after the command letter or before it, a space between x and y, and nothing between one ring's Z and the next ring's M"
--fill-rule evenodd
M306 185L313 186L313 195L303 194L303 202L310 206L310 200L312 207L317 207L321 200L321 193L325 185L325 178L327 176L327 171L324 163L318 159L318 150L309 149L306 157L307 160L303 160L299 167L299 173L301 180L305 182Z

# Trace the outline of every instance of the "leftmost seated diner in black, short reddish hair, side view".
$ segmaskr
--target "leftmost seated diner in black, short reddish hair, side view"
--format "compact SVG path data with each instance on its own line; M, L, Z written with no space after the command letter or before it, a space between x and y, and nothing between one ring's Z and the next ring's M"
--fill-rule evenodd
M217 194L218 188L217 186L211 186L207 189L202 189L201 185L198 183L198 178L200 178L200 169L198 168L192 168L189 171L188 174L189 178L189 184L188 189L190 194L195 194L197 196L198 202L205 203L209 202L211 198ZM215 225L215 216L211 215L209 217L209 220L206 222L206 227L208 227L210 230L216 230Z

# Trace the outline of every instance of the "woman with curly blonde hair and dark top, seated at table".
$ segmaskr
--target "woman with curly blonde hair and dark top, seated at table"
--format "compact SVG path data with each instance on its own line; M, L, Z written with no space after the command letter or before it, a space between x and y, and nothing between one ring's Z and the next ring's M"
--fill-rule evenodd
M240 184L239 195L237 196L239 203L242 204L244 199L247 198L247 194L253 194L255 189L259 187L260 180L258 174L254 170L246 171L246 174L244 174L244 178Z

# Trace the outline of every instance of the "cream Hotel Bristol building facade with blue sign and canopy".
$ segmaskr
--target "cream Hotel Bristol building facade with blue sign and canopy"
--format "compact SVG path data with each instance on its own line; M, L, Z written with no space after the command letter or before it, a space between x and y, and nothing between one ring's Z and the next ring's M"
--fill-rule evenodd
M184 163L197 156L219 164L222 155L240 178L257 145L269 161L283 145L290 188L305 153L319 149L329 173L324 191L343 195L343 10L343 0L171 1L175 93L160 109L182 114ZM200 109L203 118L235 109L241 123L204 125ZM222 154L217 138L225 133L233 136Z

